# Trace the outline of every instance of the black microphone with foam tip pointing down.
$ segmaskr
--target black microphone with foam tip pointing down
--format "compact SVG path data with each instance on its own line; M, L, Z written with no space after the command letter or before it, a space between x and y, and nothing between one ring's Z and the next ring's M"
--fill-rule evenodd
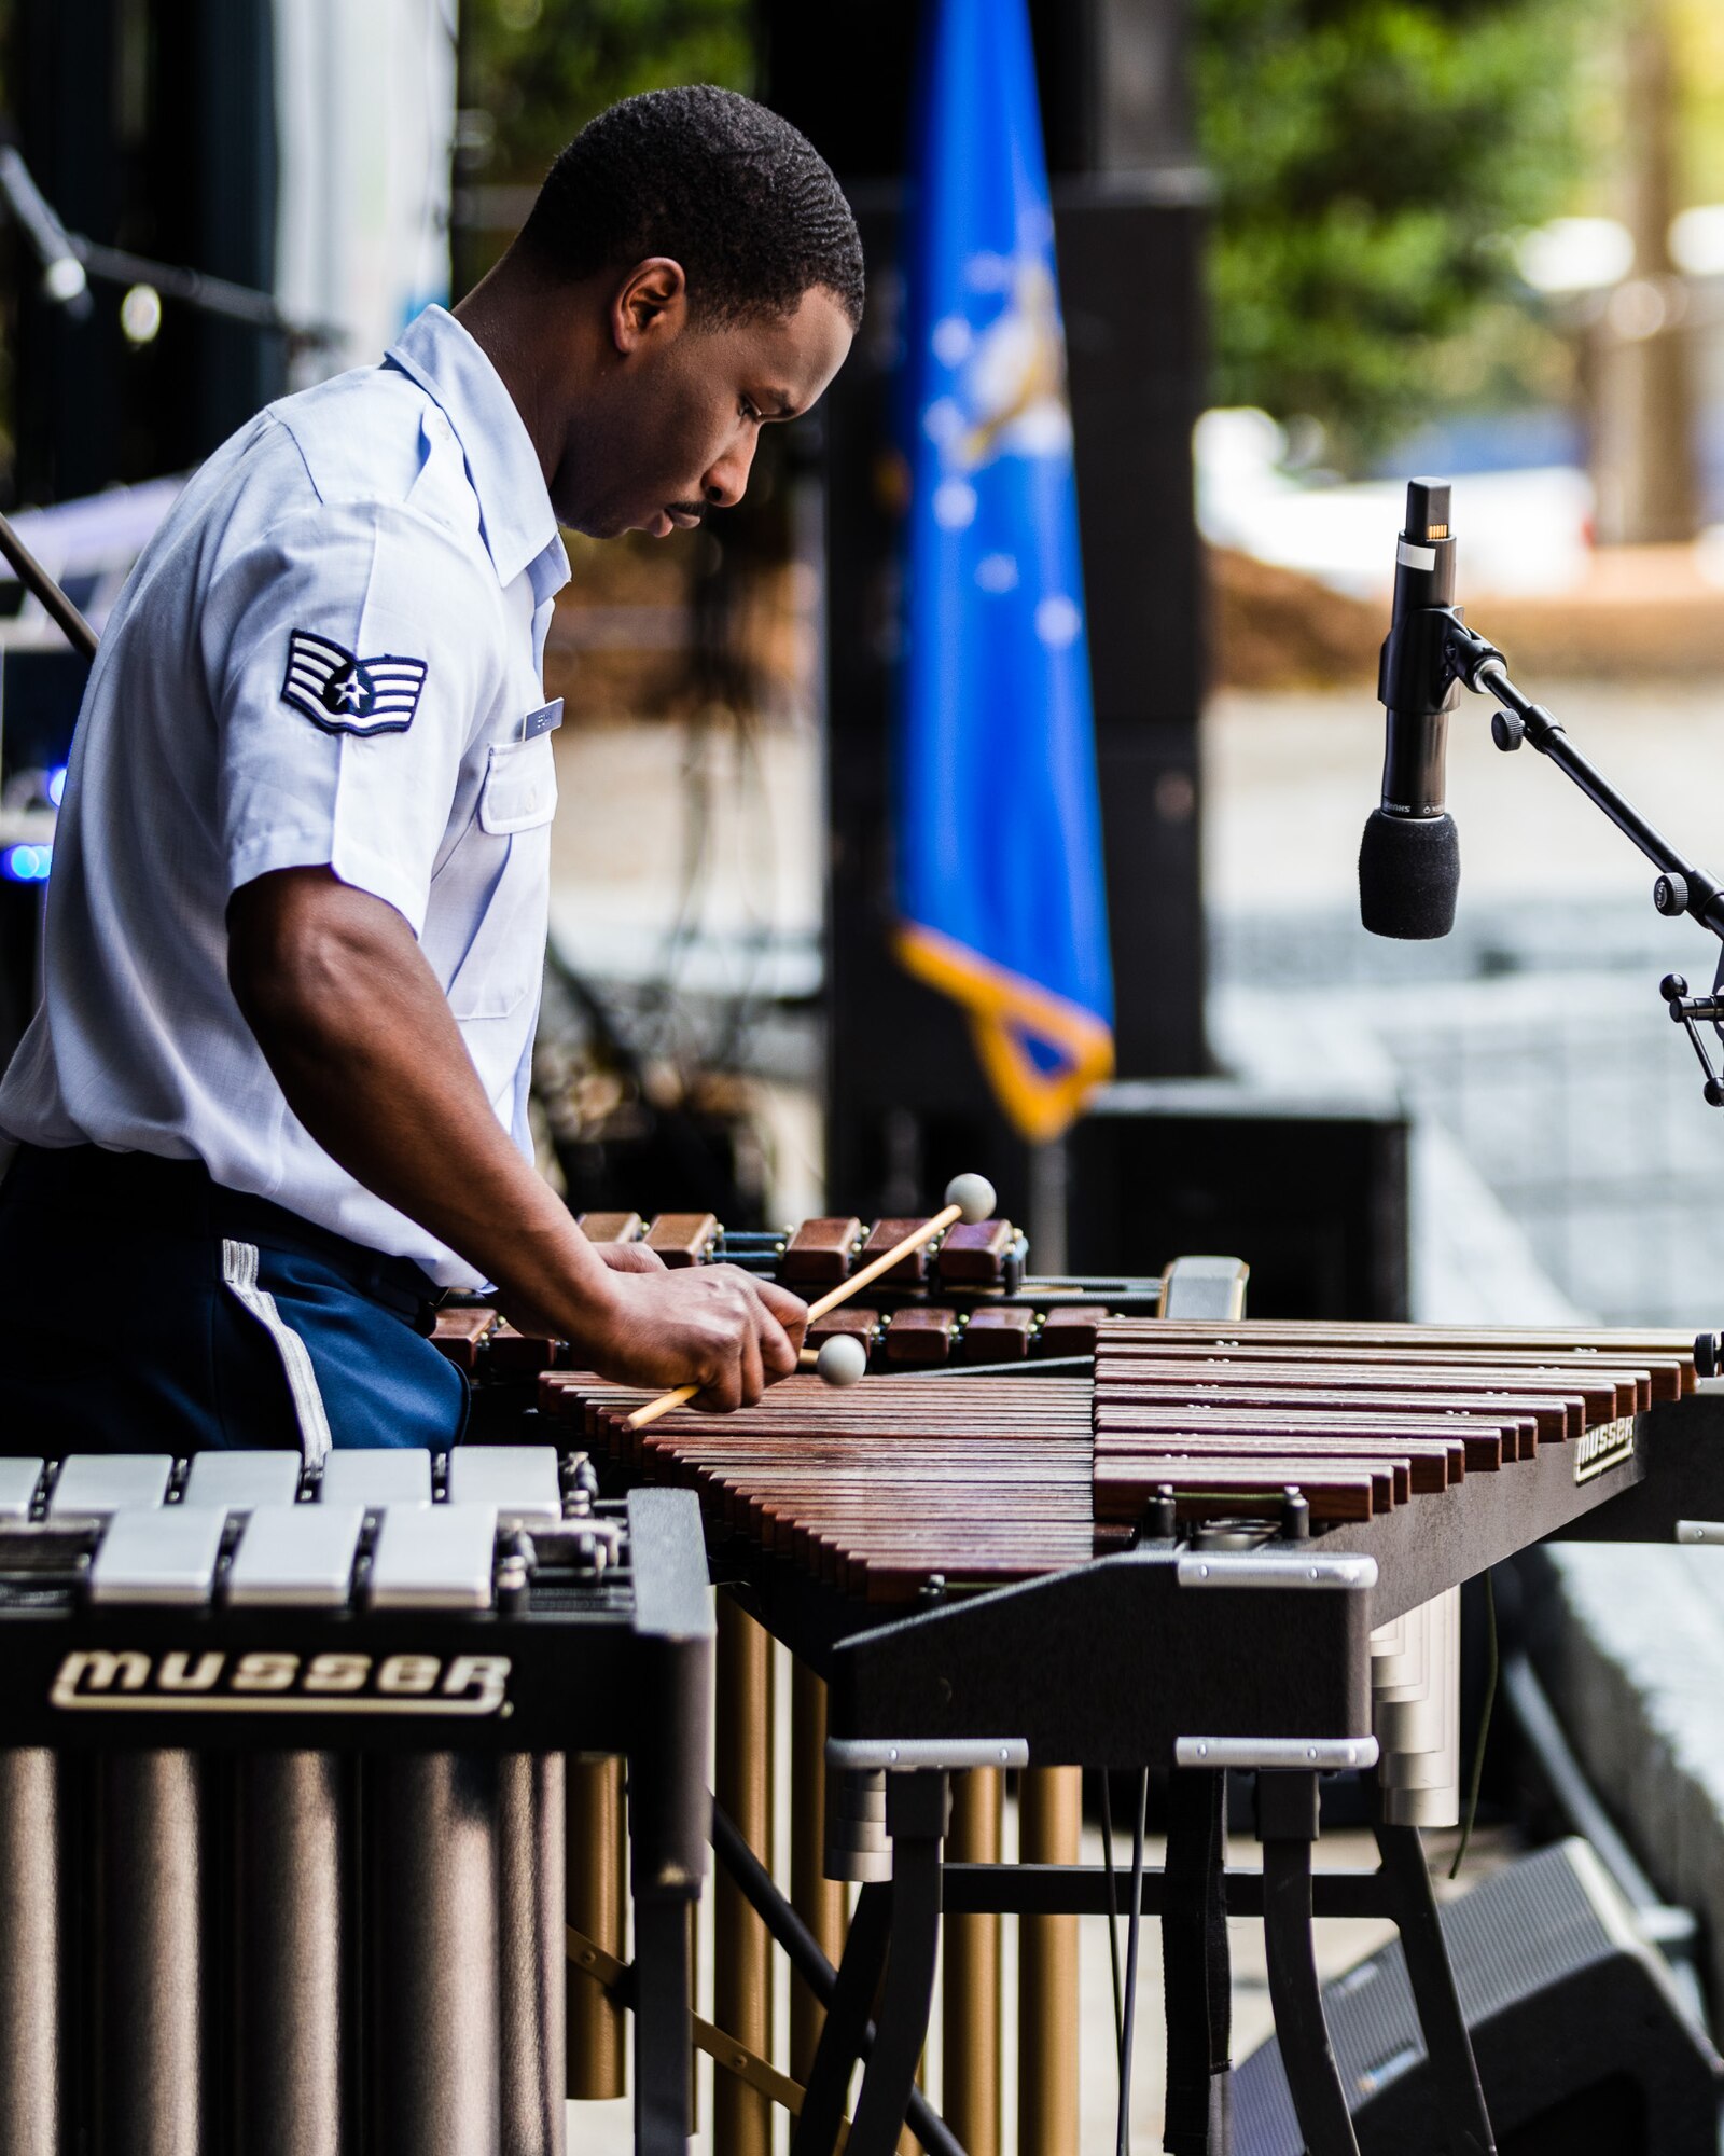
M1457 699L1444 638L1457 619L1448 481L1414 479L1377 668L1377 703L1388 714L1384 802L1360 845L1360 921L1373 936L1420 942L1455 927L1461 839L1442 806L1442 759Z

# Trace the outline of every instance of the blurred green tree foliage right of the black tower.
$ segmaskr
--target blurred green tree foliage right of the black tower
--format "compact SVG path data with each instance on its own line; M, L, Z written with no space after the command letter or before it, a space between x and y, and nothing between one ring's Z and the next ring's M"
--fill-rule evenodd
M1571 203L1601 6L1194 0L1218 403L1315 418L1358 464L1552 364L1530 323L1504 336L1508 235Z

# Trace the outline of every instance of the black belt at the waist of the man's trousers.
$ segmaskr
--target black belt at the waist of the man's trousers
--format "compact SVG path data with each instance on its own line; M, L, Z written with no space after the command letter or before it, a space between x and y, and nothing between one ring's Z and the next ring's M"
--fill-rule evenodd
M24 1145L6 1173L6 1203L78 1214L93 1231L125 1227L172 1242L228 1238L261 1250L319 1257L347 1285L431 1330L442 1287L409 1257L388 1257L334 1229L302 1220L287 1205L228 1190L200 1160L162 1153L110 1153L99 1145Z

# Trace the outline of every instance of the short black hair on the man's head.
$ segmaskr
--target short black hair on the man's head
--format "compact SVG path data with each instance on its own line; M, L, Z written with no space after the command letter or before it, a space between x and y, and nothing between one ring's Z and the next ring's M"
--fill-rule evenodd
M789 121L709 84L625 97L550 168L519 244L556 276L668 254L703 323L793 315L815 285L862 321L862 241Z

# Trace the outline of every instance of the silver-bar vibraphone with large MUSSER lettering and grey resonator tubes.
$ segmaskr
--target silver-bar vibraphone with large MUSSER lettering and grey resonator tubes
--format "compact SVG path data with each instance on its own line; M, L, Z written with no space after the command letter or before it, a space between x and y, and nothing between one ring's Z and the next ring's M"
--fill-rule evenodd
M578 1453L0 1457L0 2147L560 2152L565 1759L623 1753L683 2156L709 1680L698 1509Z

